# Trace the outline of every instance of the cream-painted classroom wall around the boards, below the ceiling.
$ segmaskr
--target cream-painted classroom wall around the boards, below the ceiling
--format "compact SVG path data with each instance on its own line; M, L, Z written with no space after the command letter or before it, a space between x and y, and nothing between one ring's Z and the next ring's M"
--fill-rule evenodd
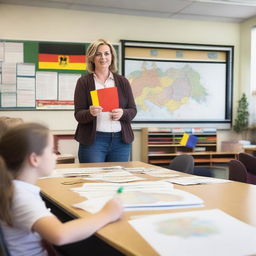
M86 11L0 4L0 38L90 42L107 38L197 44L234 45L234 100L240 96L240 24L183 19L139 17ZM242 54L243 55L243 54ZM243 56L244 57L244 56ZM244 60L244 58L243 58ZM235 105L234 105L235 107ZM52 130L74 130L72 111L2 111L0 115L39 121ZM135 132L133 159L140 159L140 131ZM233 138L220 131L221 140Z

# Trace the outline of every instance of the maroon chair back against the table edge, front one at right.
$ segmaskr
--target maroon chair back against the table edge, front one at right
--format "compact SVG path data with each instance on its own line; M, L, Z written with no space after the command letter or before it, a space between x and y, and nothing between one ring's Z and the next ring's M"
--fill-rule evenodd
M231 160L228 164L229 180L247 182L247 171L244 164L238 160Z

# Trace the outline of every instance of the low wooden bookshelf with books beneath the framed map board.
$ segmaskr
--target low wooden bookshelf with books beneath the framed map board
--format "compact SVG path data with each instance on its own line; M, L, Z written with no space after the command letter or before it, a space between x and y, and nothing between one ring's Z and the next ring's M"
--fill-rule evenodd
M198 137L195 148L179 144L183 133L193 133ZM217 133L214 129L142 129L143 162L166 166L179 154L189 154L194 157L196 166L223 166L230 160L236 159L234 152L217 152Z

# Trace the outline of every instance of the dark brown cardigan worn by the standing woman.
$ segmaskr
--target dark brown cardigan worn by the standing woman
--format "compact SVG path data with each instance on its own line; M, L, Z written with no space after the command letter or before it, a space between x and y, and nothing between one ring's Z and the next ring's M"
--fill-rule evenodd
M113 73L113 76L115 86L118 89L119 107L124 111L119 120L122 129L122 140L125 143L131 143L134 139L131 121L137 113L131 86L125 77L115 73ZM95 90L93 74L78 79L74 96L74 115L78 122L75 139L83 145L91 145L96 134L96 117L89 112L89 107L92 105L90 96L92 90Z

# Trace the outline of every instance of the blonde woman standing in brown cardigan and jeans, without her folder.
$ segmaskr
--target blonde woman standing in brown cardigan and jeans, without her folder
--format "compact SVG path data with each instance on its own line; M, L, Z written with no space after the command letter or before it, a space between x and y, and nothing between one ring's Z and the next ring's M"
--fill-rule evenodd
M86 58L89 74L78 79L74 96L79 162L129 161L134 140L131 121L137 113L130 83L115 73L116 52L106 40L93 42ZM101 106L92 106L90 91L114 86L118 91L119 108L102 112Z

